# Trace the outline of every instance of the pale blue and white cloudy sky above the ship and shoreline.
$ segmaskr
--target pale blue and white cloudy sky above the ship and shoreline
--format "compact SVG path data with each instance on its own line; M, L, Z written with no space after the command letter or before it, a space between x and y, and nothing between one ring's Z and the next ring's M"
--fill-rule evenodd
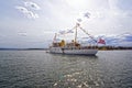
M1 0L0 47L48 47L54 34L81 26L109 45L132 45L132 0ZM90 18L85 18L85 13Z

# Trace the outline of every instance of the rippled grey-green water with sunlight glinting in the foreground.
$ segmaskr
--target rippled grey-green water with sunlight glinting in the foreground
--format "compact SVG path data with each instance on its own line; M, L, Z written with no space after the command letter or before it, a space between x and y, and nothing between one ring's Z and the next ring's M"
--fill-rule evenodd
M132 88L132 51L96 56L0 51L0 88Z

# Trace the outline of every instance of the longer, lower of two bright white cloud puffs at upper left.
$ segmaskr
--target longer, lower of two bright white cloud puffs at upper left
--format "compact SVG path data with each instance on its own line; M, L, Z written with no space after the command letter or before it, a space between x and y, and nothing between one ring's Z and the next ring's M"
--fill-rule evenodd
M15 9L18 9L20 12L22 12L22 13L23 13L26 18L29 18L29 19L36 19L36 18L38 18L38 14L37 14L37 13L34 13L34 12L28 10L28 9L24 8L24 7L18 6L18 7L15 7Z

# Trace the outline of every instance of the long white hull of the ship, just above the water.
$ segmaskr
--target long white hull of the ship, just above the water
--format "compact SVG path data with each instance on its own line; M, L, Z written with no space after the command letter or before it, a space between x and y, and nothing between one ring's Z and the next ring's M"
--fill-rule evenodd
M70 54L70 55L96 55L98 50L96 48L61 48L51 47L50 53L54 54Z

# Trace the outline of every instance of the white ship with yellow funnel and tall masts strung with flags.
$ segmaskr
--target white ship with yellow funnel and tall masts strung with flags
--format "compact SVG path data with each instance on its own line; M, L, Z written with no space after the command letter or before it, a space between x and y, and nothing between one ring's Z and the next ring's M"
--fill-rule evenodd
M56 41L57 33L55 33L52 45L50 46L50 53L52 54L68 54L68 55L96 55L98 53L97 45L82 46L77 42L78 29L85 32L92 41L97 42L88 32L86 32L79 23L76 23L73 30L75 30L75 37L70 43L66 43L65 40L61 42ZM64 33L63 33L64 34Z

